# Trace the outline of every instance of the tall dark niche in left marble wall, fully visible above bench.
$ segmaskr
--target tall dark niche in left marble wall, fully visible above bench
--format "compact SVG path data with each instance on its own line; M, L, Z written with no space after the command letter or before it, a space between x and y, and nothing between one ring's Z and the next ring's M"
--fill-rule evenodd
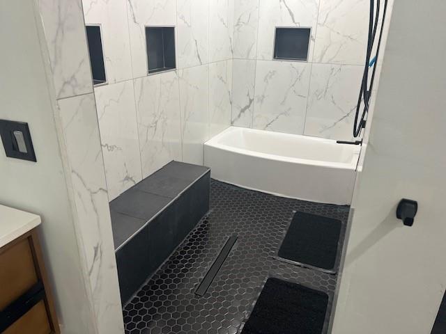
M148 73L176 68L173 26L146 26Z

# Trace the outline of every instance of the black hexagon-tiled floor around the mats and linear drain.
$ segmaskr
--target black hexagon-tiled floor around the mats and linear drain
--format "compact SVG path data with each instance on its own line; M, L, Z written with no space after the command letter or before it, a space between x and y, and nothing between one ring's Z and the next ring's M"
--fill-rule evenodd
M214 180L210 207L210 214L125 305L125 333L238 333L270 276L332 296L336 275L274 255L293 210L340 219L344 237L348 207L279 198ZM194 290L233 234L238 240L213 284L205 296L196 296Z

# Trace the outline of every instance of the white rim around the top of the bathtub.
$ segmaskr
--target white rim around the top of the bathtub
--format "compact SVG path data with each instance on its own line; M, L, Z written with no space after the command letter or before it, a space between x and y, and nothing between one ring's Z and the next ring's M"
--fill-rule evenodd
M254 151L254 150L248 150L245 148L236 148L234 146L226 145L226 144L222 144L222 143L218 142L218 141L220 141L220 139L222 137L228 135L231 132L236 132L236 131L257 132L257 133L268 132L268 133L278 134L278 135L282 135L282 136L297 136L297 137L301 137L301 138L305 137L305 140L307 140L307 141L325 142L325 143L330 143L330 145L332 145L332 144L348 145L348 144L336 143L336 141L334 141L333 139L328 139L328 138L305 136L302 134L286 134L286 133L282 133L282 132L270 132L268 130L251 129L251 128L247 128L247 127L228 127L227 129L224 129L222 132L220 132L220 134L217 134L216 136L213 136L212 138L210 138L208 141L206 141L204 143L204 145L211 147L211 148L234 152L237 154L248 155L250 157L257 157L260 159L269 159L269 160L274 160L274 161L286 162L289 164L302 164L302 165L307 165L307 166L320 166L320 167L334 168L334 169L348 169L348 170L356 170L357 169L357 163L358 163L358 159L360 157L360 152L361 152L361 149L359 147L357 147L357 145L355 145L355 148L353 148L353 157L351 159L351 162L347 163L347 162L332 162L332 161L320 161L320 160L312 160L312 159L294 158L294 157L284 157L284 156L278 155L278 154L263 153L263 152L258 152L258 151ZM348 146L351 146L351 145L348 145Z

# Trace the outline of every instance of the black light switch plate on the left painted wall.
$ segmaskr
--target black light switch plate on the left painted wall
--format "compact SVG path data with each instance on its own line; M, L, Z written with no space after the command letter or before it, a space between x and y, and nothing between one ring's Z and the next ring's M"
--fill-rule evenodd
M0 120L0 136L6 157L37 161L28 123Z

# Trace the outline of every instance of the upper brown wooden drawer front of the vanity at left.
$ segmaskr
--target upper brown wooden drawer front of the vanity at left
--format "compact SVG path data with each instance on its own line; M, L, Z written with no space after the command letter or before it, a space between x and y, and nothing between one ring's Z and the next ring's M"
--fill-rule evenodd
M28 238L0 250L0 311L38 282Z

